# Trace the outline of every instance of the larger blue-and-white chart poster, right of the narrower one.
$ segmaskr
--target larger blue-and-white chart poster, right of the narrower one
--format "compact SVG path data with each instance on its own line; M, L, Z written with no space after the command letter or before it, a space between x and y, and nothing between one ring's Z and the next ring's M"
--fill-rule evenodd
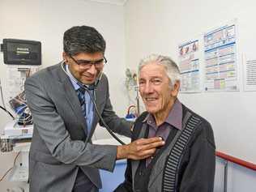
M216 28L203 39L205 91L238 91L236 25Z

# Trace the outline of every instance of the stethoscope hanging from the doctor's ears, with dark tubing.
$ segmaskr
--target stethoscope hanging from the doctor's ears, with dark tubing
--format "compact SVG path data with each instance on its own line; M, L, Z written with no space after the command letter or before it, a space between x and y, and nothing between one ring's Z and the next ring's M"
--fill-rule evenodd
M92 86L88 87L87 85L79 82L79 80L75 79L72 75L70 75L66 69L65 69L65 61L62 61L61 63L61 66L62 66L62 70L64 71L64 73L70 77L70 79L72 79L75 83L77 83L79 85L79 87L83 87L83 89L89 94L91 100L92 100L92 103L96 109L96 113L98 115L98 117L100 118L100 121L103 123L103 125L105 126L105 128L109 131L109 134L111 134L113 136L114 139L117 140L117 142L121 143L122 145L125 145L126 143L123 143L122 140L118 139L117 135L113 133L112 130L110 130L109 126L106 124L106 122L104 121L103 117L101 116L100 112L99 112L99 109L97 108L97 105L96 105L96 96L92 96L92 93L90 91L96 91L96 88L98 86L98 84L100 83L100 79L103 75L102 71L100 72L100 75L99 77L96 79L96 83L94 83Z

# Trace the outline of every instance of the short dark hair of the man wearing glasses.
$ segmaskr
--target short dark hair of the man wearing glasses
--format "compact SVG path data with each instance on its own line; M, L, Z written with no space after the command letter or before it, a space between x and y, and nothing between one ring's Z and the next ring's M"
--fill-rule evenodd
M63 49L68 55L77 53L105 53L106 42L95 28L89 26L75 26L63 36Z

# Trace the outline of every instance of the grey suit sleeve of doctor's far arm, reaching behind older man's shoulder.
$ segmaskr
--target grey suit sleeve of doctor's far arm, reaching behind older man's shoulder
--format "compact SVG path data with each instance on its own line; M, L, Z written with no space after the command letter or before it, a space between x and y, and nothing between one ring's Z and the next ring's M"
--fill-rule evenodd
M107 94L105 97L105 108L101 115L107 123L107 125L109 126L109 128L113 130L113 132L125 135L126 137L131 137L130 128L133 123L126 121L125 118L118 117L116 113L113 111L113 106L111 105L111 101L109 99L109 82L106 77L105 79ZM100 126L104 126L101 121Z

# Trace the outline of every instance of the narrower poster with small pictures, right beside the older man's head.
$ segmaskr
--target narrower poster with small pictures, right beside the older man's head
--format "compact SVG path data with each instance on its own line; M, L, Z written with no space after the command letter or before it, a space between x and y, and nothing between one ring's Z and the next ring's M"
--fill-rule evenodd
M186 41L178 46L181 92L201 92L199 41Z

